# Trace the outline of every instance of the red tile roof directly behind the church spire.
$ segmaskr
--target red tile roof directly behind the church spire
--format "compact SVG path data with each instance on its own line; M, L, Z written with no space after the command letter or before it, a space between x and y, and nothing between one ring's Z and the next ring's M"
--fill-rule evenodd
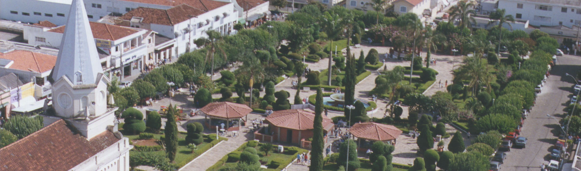
M89 22L91 25L91 32L93 32L93 37L96 39L110 40L114 41L120 38L124 38L128 35L139 32L139 30L130 27L115 26L112 24ZM51 32L63 33L65 26L57 27Z

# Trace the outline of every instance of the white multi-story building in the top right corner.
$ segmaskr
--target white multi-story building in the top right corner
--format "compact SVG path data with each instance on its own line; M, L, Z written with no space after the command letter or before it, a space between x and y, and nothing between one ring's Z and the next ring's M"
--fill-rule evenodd
M499 9L506 9L515 19L529 20L533 26L566 26L581 24L579 0L500 0Z

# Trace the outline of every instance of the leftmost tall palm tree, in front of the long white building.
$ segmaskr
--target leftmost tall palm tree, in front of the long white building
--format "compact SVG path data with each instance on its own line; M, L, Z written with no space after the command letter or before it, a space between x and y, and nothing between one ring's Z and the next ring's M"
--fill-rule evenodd
M208 60L211 60L210 79L212 79L214 75L214 53L216 52L222 53L224 60L226 60L226 52L224 52L224 49L222 49L222 47L219 44L223 38L220 32L208 30L206 31L206 34L208 35L207 38L199 38L196 41L194 41L194 43L196 44L196 46L198 46L198 48L202 46L209 48L208 52L206 53L206 60L204 62L207 63Z

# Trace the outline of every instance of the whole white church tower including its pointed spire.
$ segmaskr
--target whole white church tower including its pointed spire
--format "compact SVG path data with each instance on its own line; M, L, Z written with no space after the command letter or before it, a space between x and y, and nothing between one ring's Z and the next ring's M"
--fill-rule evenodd
M117 125L117 108L107 108L109 79L99 63L83 0L73 0L68 17L51 77L55 114L46 114L44 125L63 118L91 139Z

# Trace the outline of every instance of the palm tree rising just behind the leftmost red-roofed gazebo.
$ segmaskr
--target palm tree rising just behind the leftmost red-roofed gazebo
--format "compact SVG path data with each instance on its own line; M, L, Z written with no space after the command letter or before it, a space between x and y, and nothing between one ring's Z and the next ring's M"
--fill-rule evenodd
M235 71L236 75L241 75L242 79L248 79L248 85L250 86L250 107L252 108L252 86L254 85L254 80L257 82L262 82L264 78L264 67L260 63L257 57L249 56L244 61L244 64Z

